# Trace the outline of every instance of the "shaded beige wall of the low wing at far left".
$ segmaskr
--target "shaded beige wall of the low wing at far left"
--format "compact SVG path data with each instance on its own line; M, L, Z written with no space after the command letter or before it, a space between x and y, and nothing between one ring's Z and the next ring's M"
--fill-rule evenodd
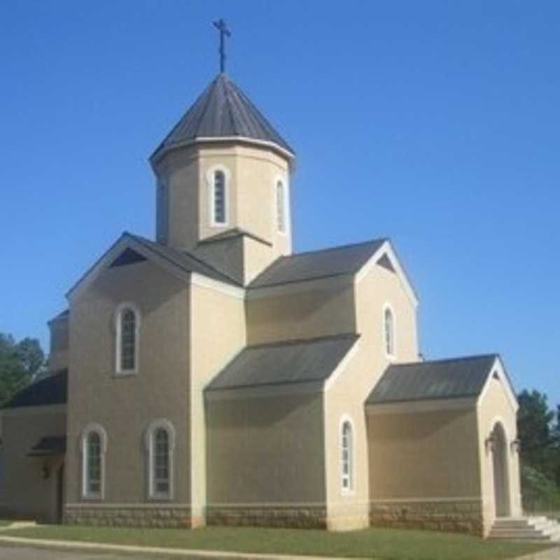
M57 469L62 456L28 457L41 437L64 435L64 406L22 407L3 412L4 485L0 506L5 514L43 522L57 520ZM43 477L43 465L49 477Z

